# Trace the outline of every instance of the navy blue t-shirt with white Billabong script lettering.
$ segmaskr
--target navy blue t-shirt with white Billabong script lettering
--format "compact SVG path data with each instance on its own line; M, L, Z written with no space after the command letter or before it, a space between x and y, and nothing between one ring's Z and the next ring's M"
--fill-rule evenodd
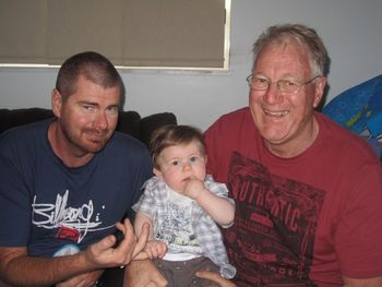
M67 167L51 150L45 120L0 136L0 246L63 255L116 230L152 176L147 148L115 132L86 165Z

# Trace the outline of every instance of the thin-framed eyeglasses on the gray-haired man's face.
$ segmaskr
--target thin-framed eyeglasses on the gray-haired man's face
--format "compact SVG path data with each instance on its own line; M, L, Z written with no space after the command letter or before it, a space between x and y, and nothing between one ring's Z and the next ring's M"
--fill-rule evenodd
M320 77L321 75L317 75L313 79L309 80L308 82L305 82L302 84L296 83L294 81L289 80L278 80L276 82L276 86L279 92L282 93L298 93L302 86L306 86L310 83L312 83L315 79ZM253 76L253 74L250 74L247 76L246 81L248 82L251 89L254 91L267 91L272 84L271 81L260 77L260 76Z

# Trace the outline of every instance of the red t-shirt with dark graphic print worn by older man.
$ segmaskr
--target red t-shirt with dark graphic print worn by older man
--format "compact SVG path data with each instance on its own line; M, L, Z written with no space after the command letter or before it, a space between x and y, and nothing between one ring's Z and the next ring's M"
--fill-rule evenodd
M236 202L224 230L238 286L342 286L382 276L382 169L371 146L321 113L315 142L271 154L249 108L206 132L207 172Z

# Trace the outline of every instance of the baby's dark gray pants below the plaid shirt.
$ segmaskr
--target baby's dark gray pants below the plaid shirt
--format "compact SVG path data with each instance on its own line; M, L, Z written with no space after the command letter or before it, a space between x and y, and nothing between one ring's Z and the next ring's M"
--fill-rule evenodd
M168 287L204 287L212 282L195 276L196 271L219 273L219 267L210 259L201 256L188 261L154 260L155 266L166 277Z

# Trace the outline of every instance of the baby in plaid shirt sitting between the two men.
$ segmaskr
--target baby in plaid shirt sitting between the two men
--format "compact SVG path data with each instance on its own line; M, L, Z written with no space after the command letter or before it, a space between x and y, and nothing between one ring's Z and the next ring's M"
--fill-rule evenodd
M217 271L232 278L217 224L229 227L235 203L225 184L206 175L203 134L189 125L166 125L150 144L155 176L144 184L134 205L134 228L141 235L148 223L145 252L168 280L168 286L205 286L196 271Z

